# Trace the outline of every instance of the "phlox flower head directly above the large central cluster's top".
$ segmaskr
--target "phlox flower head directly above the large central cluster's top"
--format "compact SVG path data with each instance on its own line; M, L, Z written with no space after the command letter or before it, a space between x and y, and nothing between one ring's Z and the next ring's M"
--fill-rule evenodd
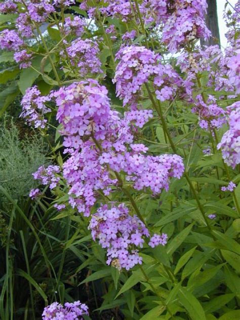
M98 73L101 71L101 61L98 58L99 48L96 42L91 39L75 39L66 49L72 66L78 69L81 76L88 73ZM61 53L65 57L65 53Z

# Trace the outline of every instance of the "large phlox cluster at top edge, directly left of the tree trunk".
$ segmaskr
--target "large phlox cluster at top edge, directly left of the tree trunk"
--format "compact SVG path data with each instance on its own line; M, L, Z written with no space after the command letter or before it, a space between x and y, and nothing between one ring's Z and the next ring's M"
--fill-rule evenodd
M177 0L170 2L172 12L164 24L163 41L170 52L176 52L195 38L209 38L210 31L206 27L206 0Z

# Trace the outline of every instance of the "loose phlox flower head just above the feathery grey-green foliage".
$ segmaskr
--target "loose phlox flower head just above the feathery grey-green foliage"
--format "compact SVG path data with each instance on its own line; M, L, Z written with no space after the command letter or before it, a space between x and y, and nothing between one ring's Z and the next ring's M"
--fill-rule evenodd
M50 97L42 96L36 86L28 88L21 101L20 117L23 117L29 126L44 129L47 123L44 114L51 111L45 105L47 101L50 101Z

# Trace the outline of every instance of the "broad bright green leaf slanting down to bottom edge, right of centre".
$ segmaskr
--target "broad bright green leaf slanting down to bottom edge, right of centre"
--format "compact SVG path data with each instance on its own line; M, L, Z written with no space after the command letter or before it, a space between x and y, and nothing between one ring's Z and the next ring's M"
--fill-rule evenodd
M178 296L179 301L187 310L192 320L206 320L204 309L193 294L181 287L179 288Z

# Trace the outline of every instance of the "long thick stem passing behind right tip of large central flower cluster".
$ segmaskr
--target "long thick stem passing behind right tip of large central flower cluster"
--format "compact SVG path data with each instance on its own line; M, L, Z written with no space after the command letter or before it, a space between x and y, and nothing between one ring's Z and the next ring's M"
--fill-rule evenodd
M170 132L169 132L169 130L168 130L168 126L167 126L167 123L166 123L165 118L164 118L164 115L163 115L163 111L162 111L161 104L160 104L160 103L156 104L156 102L155 102L155 100L154 100L154 98L153 98L153 96L152 96L152 93L151 93L151 91L150 91L150 89L149 89L149 87L148 87L148 84L145 84L145 87L146 87L146 89L147 89L147 93L148 93L148 96L149 96L149 98L150 98L150 100L151 100L151 102L152 102L152 105L153 105L154 109L156 110L157 114L159 115L159 118L161 119L162 126L163 126L163 130L166 132L166 135L167 135L167 137L168 137L168 140L169 140L169 143L170 143L170 145L171 145L171 147L172 147L172 150L173 150L174 153L177 153L177 148L175 147L175 144L174 144L174 142L173 142L173 140L172 140L172 137L171 137L171 135L170 135ZM208 229L209 229L210 231L212 231L211 225L209 224L208 219L207 219L207 217L205 216L204 208L203 208L203 206L202 206L202 204L201 204L201 202L200 202L200 200L199 200L199 197L198 197L198 195L197 195L197 193L196 193L195 188L194 188L193 185L192 185L192 182L191 182L191 180L190 180L190 178L189 178L189 175L188 175L187 171L184 172L184 176L185 176L185 178L186 178L186 180L187 180L187 182L188 182L188 184L189 184L189 187L190 187L190 189L191 189L191 191L192 191L192 194L193 194L193 196L194 196L194 198L195 198L195 201L196 201L196 203L197 203L197 206L198 206L198 208L199 208L199 210L200 210L200 212L201 212L201 214L202 214L202 216L203 216L203 219L204 219L204 221L205 221Z

